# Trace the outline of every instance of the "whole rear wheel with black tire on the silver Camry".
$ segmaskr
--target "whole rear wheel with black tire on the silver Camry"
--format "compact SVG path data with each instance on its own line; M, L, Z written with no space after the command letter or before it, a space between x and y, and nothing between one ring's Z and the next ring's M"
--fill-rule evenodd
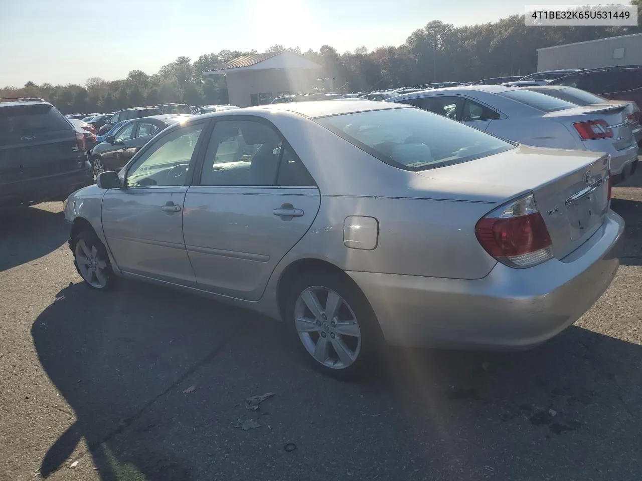
M318 371L342 380L363 376L383 344L376 316L345 275L310 272L290 283L286 322L302 355Z

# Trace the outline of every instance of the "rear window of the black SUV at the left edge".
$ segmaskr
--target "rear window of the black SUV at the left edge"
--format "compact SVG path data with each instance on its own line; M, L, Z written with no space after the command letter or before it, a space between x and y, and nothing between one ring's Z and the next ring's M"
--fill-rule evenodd
M69 121L48 104L0 107L0 136L68 129L71 129Z

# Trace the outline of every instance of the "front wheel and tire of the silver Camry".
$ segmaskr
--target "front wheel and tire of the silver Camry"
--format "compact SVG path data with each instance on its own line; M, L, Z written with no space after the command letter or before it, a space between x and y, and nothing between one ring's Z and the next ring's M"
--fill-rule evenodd
M115 282L107 249L91 230L83 230L71 241L74 266L86 285L92 289L107 290Z

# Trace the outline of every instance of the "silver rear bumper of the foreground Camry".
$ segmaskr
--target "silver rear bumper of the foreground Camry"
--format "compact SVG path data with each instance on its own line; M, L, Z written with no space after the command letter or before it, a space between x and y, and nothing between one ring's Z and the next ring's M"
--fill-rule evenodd
M614 277L624 221L609 212L600 229L564 258L529 269L496 264L483 279L349 271L388 343L519 350L547 341L584 314Z

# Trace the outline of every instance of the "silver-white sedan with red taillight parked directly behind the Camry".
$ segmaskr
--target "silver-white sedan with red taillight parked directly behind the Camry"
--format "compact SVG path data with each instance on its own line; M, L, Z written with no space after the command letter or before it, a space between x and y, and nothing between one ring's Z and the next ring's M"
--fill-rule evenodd
M519 87L471 85L388 99L465 122L530 146L593 150L611 155L614 183L629 176L638 144L625 106L578 106Z

